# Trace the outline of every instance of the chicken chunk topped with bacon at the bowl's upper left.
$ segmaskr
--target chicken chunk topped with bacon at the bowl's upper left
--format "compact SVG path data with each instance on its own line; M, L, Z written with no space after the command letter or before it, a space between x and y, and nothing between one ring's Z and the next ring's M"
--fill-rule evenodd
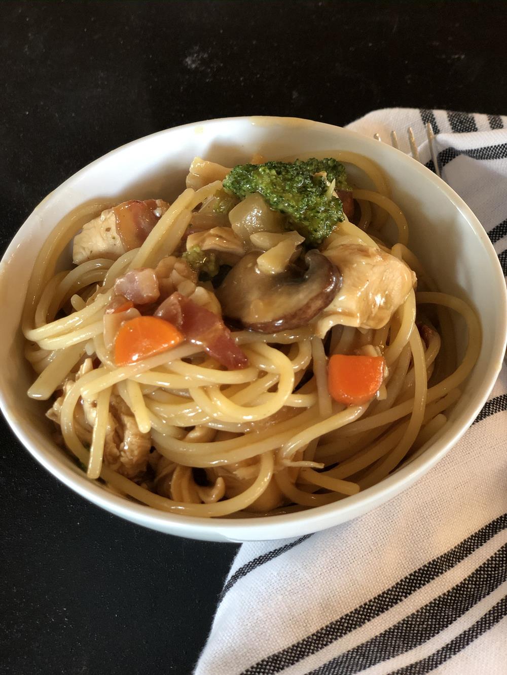
M97 258L118 259L141 245L167 209L168 204L162 199L131 200L105 209L74 237L72 261L80 265Z

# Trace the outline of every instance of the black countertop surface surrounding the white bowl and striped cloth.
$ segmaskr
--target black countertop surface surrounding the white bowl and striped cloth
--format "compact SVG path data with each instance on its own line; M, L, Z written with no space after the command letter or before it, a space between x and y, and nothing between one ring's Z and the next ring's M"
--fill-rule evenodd
M0 252L69 175L178 124L507 114L506 3L4 1L0 26ZM0 672L190 673L236 547L111 516L0 434Z

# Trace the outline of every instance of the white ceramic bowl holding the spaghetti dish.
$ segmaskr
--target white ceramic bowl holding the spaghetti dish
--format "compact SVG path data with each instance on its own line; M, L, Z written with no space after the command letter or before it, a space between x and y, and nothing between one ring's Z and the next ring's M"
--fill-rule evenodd
M468 298L479 313L483 325L479 361L448 424L416 459L378 485L336 504L285 516L231 520L178 516L135 504L88 481L51 440L45 405L26 396L34 376L22 353L22 298L37 252L55 223L95 198L172 199L183 190L195 155L231 166L249 161L254 152L276 159L338 149L366 155L381 165L395 202L408 217L410 248L441 290ZM0 264L0 298L0 406L34 458L68 487L122 518L212 541L279 539L319 531L360 516L406 489L450 450L477 416L500 371L507 332L506 291L498 258L477 218L449 186L386 144L328 124L281 117L214 119L169 129L128 143L78 171L34 209L11 242Z

